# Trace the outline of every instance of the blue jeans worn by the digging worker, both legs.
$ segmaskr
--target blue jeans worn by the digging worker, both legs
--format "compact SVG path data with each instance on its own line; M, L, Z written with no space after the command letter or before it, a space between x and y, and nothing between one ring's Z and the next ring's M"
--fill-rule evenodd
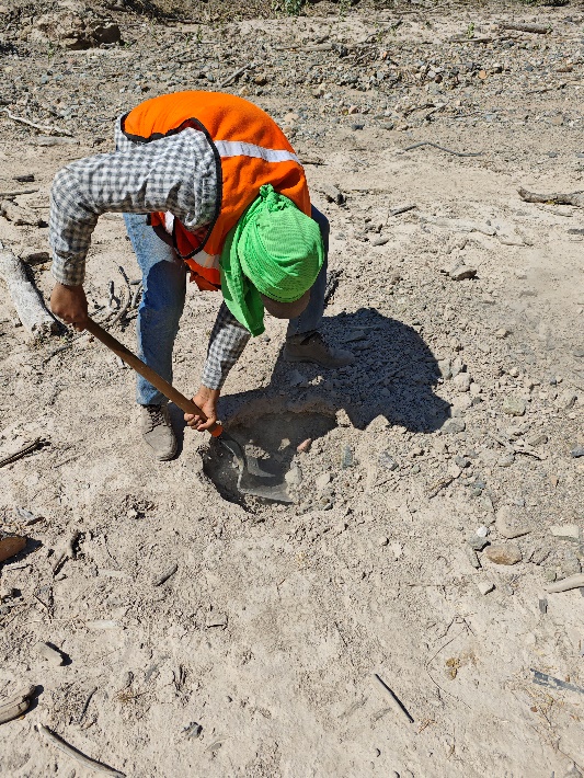
M306 335L320 327L324 311L329 220L314 206L312 218L324 242L324 264L318 275L306 310L288 324L286 337ZM174 250L146 224L142 214L124 214L131 248L142 274L144 294L138 309L138 356L172 384L172 350L184 309L187 267ZM136 401L140 405L160 404L163 394L141 376L137 377Z

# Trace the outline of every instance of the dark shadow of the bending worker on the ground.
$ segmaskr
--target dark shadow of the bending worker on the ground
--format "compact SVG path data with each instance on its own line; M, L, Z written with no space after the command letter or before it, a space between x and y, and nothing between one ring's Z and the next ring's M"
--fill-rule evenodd
M413 328L375 308L359 308L323 321L322 332L335 346L352 351L353 365L324 369L278 357L270 387L229 394L220 400L220 417L278 412L284 399L301 405L320 398L329 411L344 409L351 423L364 430L377 416L411 432L431 433L450 417L448 402L434 393L439 378L436 357ZM318 381L322 376L323 381ZM279 400L279 401L278 401Z

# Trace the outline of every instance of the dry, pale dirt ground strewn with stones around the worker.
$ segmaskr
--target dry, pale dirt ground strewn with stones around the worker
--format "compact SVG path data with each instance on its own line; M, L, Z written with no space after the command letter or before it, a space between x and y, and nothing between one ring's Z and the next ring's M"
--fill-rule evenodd
M47 54L18 24L4 34L4 105L73 135L47 146L0 122L0 188L37 190L15 202L45 218L55 172L111 150L116 113L213 89L202 61L216 84L253 58L226 91L288 127L306 161L340 272L324 332L358 362L289 366L283 324L267 322L221 416L290 465L296 503L238 500L190 431L174 461L153 462L131 371L87 336L30 343L0 284L0 459L47 442L0 470L2 526L30 539L0 565L0 705L37 690L0 728L2 775L90 775L38 724L142 778L584 771L584 598L546 592L584 559L584 216L517 193L582 187L582 13L310 14L183 28L121 13L126 46L87 52ZM512 19L552 32L508 45L495 22ZM364 48L318 48L331 42ZM176 64L182 48L195 55ZM404 151L425 140L481 155ZM46 227L0 218L0 238L24 259L47 250ZM474 277L454 279L461 262ZM121 218L102 218L87 283L98 319L108 282L123 290L119 265L137 278ZM30 273L47 297L48 263ZM188 289L174 373L186 393L219 301ZM131 317L112 332L134 347Z

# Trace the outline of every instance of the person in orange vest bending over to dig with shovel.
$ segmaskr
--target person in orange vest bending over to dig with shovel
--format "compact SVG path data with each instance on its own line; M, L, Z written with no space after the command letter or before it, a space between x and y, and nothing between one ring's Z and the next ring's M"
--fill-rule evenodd
M60 170L50 193L49 242L56 281L53 312L81 331L88 317L85 256L98 218L124 214L142 274L138 354L172 381L172 350L186 275L221 290L201 387L193 397L208 421L264 310L288 327L284 358L323 367L351 364L319 328L324 309L329 224L314 206L298 157L277 124L242 98L187 91L140 103L119 117L116 151ZM165 398L141 377L136 399L146 443L160 460L176 453Z

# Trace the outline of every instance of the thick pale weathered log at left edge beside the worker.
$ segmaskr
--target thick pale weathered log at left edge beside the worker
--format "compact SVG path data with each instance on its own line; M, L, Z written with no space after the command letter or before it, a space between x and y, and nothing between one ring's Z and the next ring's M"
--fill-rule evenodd
M34 337L57 332L59 325L26 277L23 263L11 251L2 249L0 242L0 278L7 283L8 293L24 329Z

